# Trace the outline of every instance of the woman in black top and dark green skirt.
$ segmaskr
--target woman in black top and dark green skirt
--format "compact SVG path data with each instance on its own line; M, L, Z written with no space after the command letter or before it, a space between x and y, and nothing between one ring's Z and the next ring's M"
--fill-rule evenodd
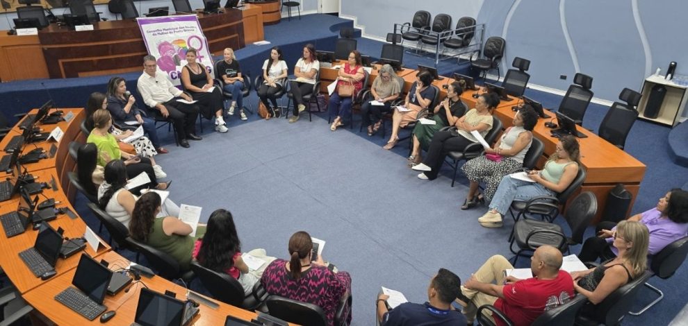
M414 166L422 158L420 157L420 150L428 148L432 136L435 132L446 126L454 126L461 117L466 114L466 104L461 101L461 84L454 82L447 87L447 97L435 106L432 112L432 117L429 119L435 121L435 124L416 123L413 127L413 149L411 156L409 156L409 166Z

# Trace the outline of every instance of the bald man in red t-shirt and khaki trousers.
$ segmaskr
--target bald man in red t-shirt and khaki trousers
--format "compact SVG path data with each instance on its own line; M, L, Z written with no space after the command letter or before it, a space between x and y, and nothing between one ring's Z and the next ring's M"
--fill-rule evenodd
M514 325L525 326L543 312L573 299L573 279L566 271L559 271L563 259L559 249L541 246L530 259L533 277L519 280L513 276L505 277L505 269L514 268L505 257L490 257L461 286L461 294L458 295L457 303L464 307L468 325L473 324L477 309L484 304L492 304ZM492 319L497 325L504 325L500 318Z

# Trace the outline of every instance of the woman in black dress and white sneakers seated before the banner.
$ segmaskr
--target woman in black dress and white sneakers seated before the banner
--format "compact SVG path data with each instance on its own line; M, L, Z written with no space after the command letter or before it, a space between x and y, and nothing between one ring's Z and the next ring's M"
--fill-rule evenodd
M196 61L197 51L194 48L186 50L186 62L181 69L181 85L186 92L191 94L201 114L206 119L215 117L215 131L227 132L227 123L224 122L222 111L224 103L220 87L213 86L213 76L208 74L206 66ZM211 90L212 89L212 90ZM211 90L208 92L208 90Z

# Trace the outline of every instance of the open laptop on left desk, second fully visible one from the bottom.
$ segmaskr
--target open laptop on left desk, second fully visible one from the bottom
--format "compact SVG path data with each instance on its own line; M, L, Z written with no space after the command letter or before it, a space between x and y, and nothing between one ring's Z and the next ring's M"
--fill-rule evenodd
M35 277L55 272L55 264L62 248L62 234L42 223L33 247L19 252L19 258Z

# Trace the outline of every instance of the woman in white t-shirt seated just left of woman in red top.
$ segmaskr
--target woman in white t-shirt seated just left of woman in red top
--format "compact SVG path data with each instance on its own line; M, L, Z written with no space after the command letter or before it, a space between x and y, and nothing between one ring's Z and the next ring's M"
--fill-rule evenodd
M296 80L290 81L289 92L294 98L294 112L289 118L289 123L295 123L299 120L299 113L306 110L304 105L304 95L313 92L313 84L316 83L316 77L320 70L320 62L316 57L316 46L313 44L306 44L304 46L304 55L296 62L294 67L294 76Z

